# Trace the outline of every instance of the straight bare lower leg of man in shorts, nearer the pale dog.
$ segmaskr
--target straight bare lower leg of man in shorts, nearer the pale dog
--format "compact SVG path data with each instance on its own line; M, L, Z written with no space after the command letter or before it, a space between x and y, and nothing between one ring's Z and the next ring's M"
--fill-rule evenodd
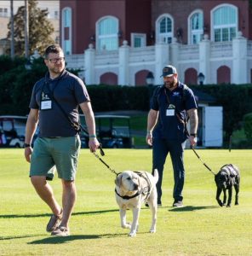
M68 229L69 219L72 215L72 210L76 201L76 186L74 181L62 181L63 194L62 194L62 206L63 206L63 217L60 226Z

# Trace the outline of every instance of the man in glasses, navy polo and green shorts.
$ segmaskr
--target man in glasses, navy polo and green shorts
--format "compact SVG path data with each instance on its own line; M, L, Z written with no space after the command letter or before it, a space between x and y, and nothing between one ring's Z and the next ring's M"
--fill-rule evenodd
M69 219L77 197L75 177L80 137L73 126L78 126L78 107L85 115L90 151L94 152L100 144L95 136L94 112L87 88L81 79L66 71L65 56L59 45L50 45L45 50L44 63L49 72L32 90L25 157L31 162L31 183L53 213L46 230L52 236L69 236ZM37 125L38 137L31 148ZM54 167L62 182L62 207L47 182L53 178Z

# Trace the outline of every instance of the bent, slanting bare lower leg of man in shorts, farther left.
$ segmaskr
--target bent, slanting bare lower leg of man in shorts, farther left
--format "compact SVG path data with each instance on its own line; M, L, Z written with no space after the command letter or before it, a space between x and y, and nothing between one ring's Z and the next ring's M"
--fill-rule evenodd
M60 214L60 205L54 198L52 187L43 176L31 176L31 183L37 191L37 195L50 207L54 215Z

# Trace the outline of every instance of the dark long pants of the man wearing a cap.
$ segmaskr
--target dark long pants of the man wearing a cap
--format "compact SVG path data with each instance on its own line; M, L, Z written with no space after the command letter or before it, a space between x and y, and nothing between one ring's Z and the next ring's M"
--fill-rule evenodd
M173 197L175 201L182 201L182 190L184 187L185 181L185 169L184 169L184 148L185 143L180 141L168 141L167 139L154 138L153 139L153 148L152 148L152 172L154 169L158 169L158 203L161 202L162 196L162 180L163 180L163 166L168 154L172 161L172 166L174 169L174 191ZM153 173L152 173L153 174Z

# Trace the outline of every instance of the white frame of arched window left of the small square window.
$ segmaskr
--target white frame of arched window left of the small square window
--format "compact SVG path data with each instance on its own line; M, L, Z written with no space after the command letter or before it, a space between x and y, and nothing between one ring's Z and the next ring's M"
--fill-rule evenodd
M106 19L113 19L116 21L116 32L114 34L109 34L109 35L101 35L99 34L99 27L100 27L100 22L102 20L106 20ZM119 32L119 20L117 19L117 17L115 16L111 16L111 15L107 15L107 16L103 16L101 17L99 20L96 21L95 23L95 48L96 50L103 50L103 48L100 46L100 38L117 38L117 49L119 47L119 39L118 39L118 32ZM109 50L109 49L106 49ZM112 50L116 50L116 49L112 49Z

